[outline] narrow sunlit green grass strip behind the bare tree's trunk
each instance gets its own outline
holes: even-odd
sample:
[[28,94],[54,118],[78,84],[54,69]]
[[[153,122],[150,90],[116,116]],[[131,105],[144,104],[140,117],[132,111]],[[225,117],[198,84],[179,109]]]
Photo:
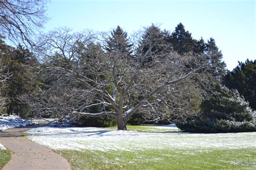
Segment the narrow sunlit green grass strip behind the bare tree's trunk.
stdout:
[[[139,126],[127,125],[126,127],[127,127],[127,130],[138,131],[138,132],[170,132],[170,131],[177,131],[176,129],[156,128],[156,126],[153,126],[153,125],[139,125]],[[110,128],[102,128],[102,129],[117,130],[117,126],[113,126],[113,127],[110,127]]]

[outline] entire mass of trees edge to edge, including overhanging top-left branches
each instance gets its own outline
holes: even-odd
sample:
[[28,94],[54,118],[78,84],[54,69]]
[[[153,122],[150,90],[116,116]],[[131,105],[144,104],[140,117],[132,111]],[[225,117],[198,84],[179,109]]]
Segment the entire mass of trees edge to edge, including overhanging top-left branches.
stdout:
[[255,61],[229,72],[213,38],[193,39],[181,23],[130,36],[120,26],[36,36],[43,1],[0,5],[2,113],[120,130],[173,122],[186,131],[255,131]]

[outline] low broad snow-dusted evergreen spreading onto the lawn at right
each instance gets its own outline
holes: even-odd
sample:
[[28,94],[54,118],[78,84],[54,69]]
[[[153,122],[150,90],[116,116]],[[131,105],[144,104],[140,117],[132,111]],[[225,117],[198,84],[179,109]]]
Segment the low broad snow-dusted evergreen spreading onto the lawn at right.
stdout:
[[227,133],[256,131],[256,112],[238,91],[221,88],[201,104],[201,115],[187,118],[178,127],[188,132]]

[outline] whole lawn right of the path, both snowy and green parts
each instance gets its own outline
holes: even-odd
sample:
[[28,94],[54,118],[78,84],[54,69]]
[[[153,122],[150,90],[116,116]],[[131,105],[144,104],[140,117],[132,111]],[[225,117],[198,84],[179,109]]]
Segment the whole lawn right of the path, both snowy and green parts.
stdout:
[[30,130],[29,139],[52,148],[73,169],[255,169],[256,132],[183,133],[171,126]]

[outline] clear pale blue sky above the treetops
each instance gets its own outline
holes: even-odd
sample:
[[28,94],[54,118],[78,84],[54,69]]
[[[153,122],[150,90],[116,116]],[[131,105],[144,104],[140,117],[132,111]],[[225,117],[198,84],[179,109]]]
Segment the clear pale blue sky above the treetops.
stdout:
[[213,37],[227,68],[256,59],[255,1],[52,0],[45,32],[67,26],[73,31],[109,31],[120,25],[132,33],[152,23],[173,31],[178,23],[194,39]]

